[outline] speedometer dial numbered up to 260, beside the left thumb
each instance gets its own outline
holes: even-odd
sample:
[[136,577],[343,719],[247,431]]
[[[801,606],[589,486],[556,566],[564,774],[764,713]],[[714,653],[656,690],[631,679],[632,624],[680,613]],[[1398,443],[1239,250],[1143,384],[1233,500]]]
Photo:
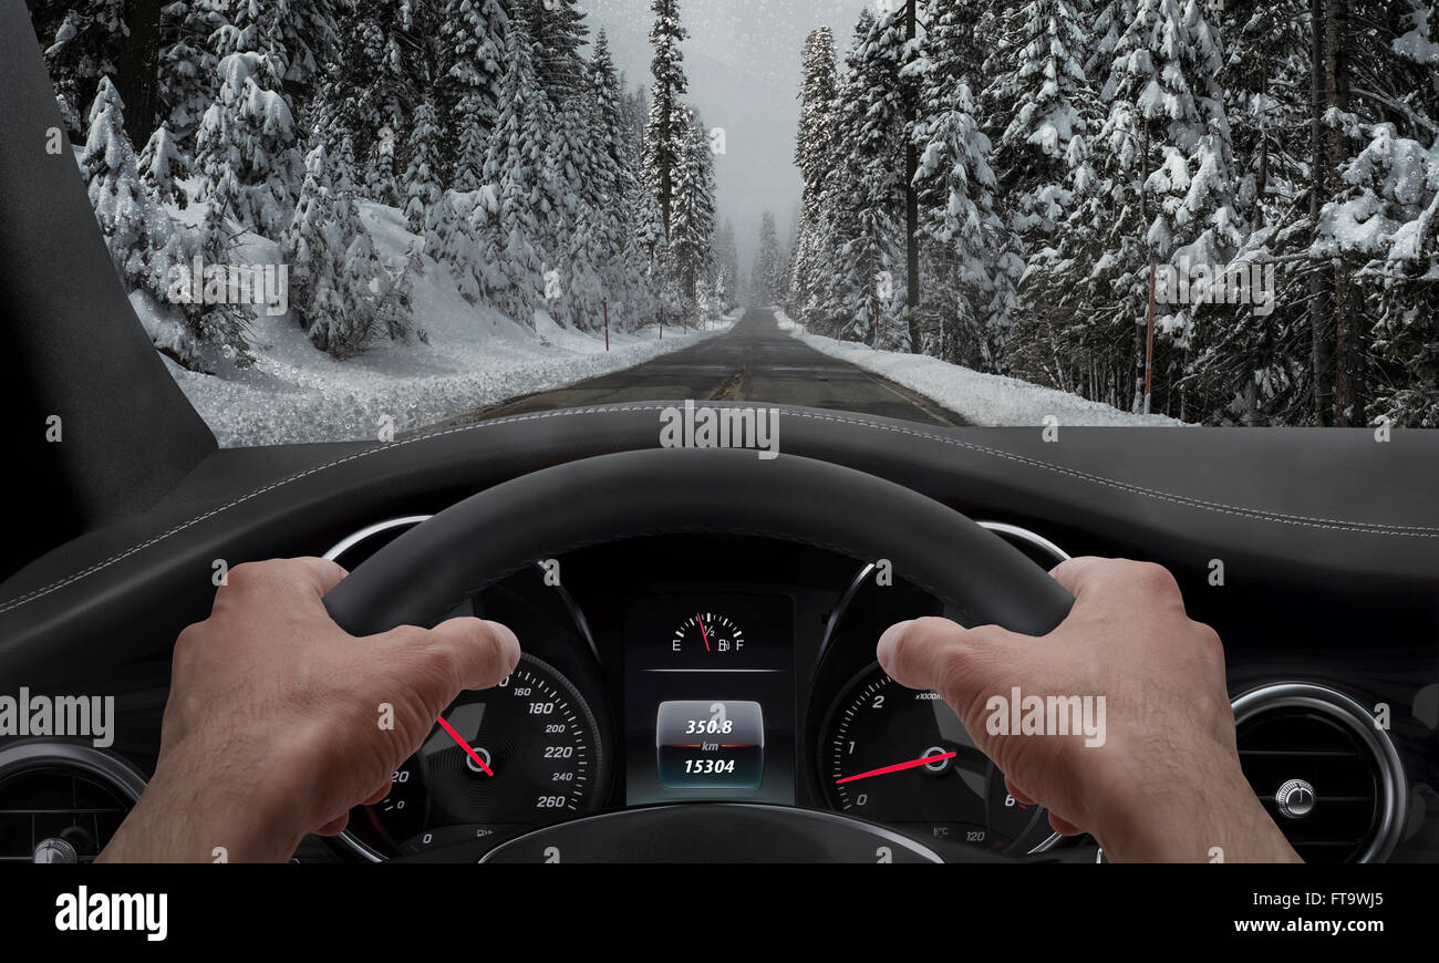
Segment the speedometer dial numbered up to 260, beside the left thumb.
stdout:
[[371,859],[466,839],[496,844],[599,803],[604,753],[578,690],[521,655],[495,688],[463,692],[420,750],[390,777],[390,795],[350,813],[345,841]]

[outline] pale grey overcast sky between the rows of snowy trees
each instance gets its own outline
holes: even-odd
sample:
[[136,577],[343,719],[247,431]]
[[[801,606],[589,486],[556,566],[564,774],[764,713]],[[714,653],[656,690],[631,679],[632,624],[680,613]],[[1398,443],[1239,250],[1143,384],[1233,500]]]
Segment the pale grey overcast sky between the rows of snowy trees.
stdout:
[[[689,30],[685,72],[689,102],[707,127],[725,130],[715,158],[721,223],[734,222],[740,269],[750,271],[760,217],[774,212],[789,243],[800,199],[794,167],[800,50],[817,26],[835,30],[843,55],[866,0],[681,0]],[[581,0],[593,32],[610,36],[614,62],[630,85],[649,83],[650,0]]]

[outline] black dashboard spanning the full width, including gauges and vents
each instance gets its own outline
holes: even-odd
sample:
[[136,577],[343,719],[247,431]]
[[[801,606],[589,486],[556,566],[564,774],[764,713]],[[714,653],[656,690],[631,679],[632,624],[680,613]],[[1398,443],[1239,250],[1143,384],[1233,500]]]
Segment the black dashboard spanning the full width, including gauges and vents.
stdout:
[[[1436,464],[1423,438],[1066,429],[1050,445],[1029,429],[784,417],[786,458],[770,468],[812,459],[889,481],[981,520],[1036,571],[1066,551],[1166,566],[1189,615],[1223,639],[1240,763],[1299,855],[1439,858],[1439,518],[1413,484]],[[3,736],[0,862],[86,862],[124,819],[155,769],[174,639],[209,615],[216,560],[330,550],[353,582],[400,533],[476,492],[522,479],[522,494],[550,468],[653,445],[655,412],[623,406],[393,445],[219,449],[147,511],[36,559],[0,586],[0,697],[112,694],[114,710],[104,744]],[[764,478],[773,488],[777,475]],[[793,507],[770,497],[763,523],[731,504],[754,492],[717,498],[709,534],[613,525],[554,547],[557,527],[603,521],[630,492],[547,491],[547,512],[450,531],[445,551],[407,563],[406,594],[509,625],[525,662],[448,707],[455,733],[436,725],[384,802],[354,810],[341,839],[307,838],[296,861],[534,861],[551,848],[574,861],[586,833],[639,854],[671,829],[681,848],[653,848],[671,859],[760,861],[810,825],[820,844],[853,836],[845,852],[812,848],[817,861],[1102,858],[1012,805],[943,704],[878,672],[885,628],[943,610],[907,580],[912,566],[891,571],[837,538],[766,537],[776,518],[816,515],[803,494]],[[649,498],[630,498],[637,517]],[[856,504],[909,538],[894,502]],[[816,528],[843,527],[819,515]],[[495,543],[522,566],[450,593],[455,569]],[[994,574],[957,541],[935,559],[970,584]],[[1004,596],[1016,574],[984,592]],[[668,812],[684,818],[666,828]],[[783,832],[767,833],[774,813]]]

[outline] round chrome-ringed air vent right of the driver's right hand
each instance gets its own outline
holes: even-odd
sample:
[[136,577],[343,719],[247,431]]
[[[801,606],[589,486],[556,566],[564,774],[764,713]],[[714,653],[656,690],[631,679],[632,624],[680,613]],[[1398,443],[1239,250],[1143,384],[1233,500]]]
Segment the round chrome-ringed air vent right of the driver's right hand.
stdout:
[[1307,862],[1381,862],[1403,826],[1404,774],[1363,705],[1302,682],[1235,701],[1239,761]]

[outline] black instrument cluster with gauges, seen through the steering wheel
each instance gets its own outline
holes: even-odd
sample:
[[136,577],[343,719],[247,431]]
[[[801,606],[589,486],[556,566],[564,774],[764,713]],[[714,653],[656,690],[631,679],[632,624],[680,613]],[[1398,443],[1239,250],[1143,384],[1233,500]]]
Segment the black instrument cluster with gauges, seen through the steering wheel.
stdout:
[[[353,567],[417,521],[374,525],[330,557]],[[991,528],[1036,564],[1065,557]],[[653,537],[543,560],[450,613],[511,626],[521,662],[450,704],[340,844],[370,861],[455,846],[485,858],[596,813],[757,803],[859,818],[938,859],[1049,851],[1062,841],[1043,809],[1006,792],[954,711],[875,662],[885,628],[941,612],[882,564],[766,538]]]

